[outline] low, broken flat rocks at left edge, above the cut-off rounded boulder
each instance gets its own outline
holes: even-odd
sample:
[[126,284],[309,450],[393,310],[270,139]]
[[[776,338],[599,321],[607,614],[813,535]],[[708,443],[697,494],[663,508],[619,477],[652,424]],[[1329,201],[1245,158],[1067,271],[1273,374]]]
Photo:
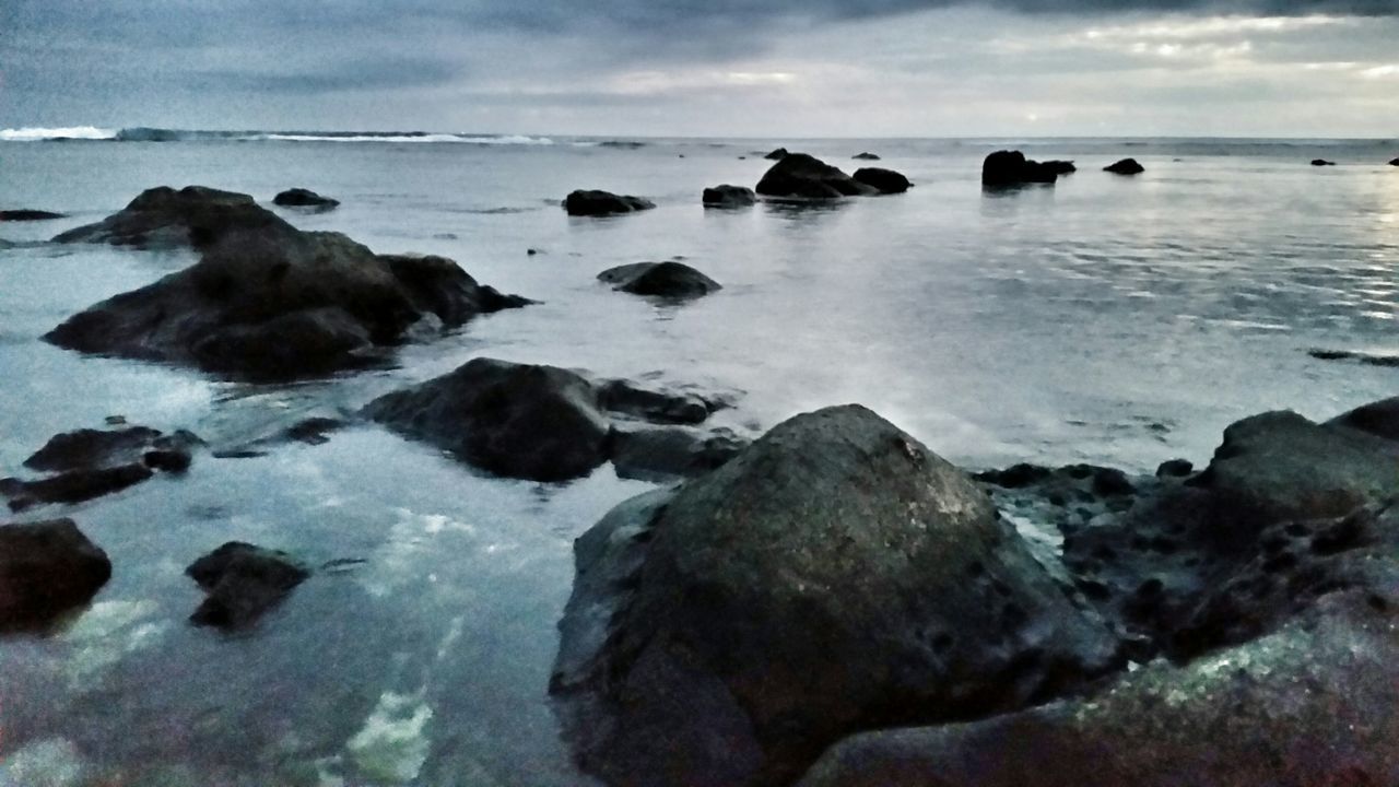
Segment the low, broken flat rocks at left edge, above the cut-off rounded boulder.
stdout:
[[31,471],[50,473],[48,478],[0,479],[0,494],[10,499],[11,511],[81,503],[141,483],[157,471],[183,472],[200,444],[199,437],[183,430],[166,436],[144,426],[69,431],[50,438],[24,462]]

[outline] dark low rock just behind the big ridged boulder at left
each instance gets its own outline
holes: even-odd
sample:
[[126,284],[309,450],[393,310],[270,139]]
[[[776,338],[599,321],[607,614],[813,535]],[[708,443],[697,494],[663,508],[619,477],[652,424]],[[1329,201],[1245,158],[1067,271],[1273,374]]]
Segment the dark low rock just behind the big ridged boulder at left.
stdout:
[[234,231],[295,232],[248,195],[204,186],[148,189],[126,209],[97,224],[55,237],[60,244],[112,244],[139,248],[203,248]]

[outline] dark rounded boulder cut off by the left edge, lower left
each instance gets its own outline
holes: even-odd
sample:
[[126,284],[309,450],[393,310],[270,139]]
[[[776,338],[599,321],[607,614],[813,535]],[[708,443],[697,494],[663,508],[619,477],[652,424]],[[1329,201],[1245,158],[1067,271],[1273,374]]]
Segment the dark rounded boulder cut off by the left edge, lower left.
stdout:
[[73,520],[0,527],[0,633],[46,627],[111,576],[106,553]]

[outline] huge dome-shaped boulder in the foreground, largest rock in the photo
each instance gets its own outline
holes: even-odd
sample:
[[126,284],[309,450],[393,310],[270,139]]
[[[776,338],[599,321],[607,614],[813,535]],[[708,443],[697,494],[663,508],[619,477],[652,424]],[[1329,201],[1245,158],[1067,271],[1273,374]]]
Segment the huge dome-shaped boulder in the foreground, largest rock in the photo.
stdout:
[[846,734],[1121,665],[981,489],[860,406],[790,419],[575,549],[551,690],[613,786],[786,784]]

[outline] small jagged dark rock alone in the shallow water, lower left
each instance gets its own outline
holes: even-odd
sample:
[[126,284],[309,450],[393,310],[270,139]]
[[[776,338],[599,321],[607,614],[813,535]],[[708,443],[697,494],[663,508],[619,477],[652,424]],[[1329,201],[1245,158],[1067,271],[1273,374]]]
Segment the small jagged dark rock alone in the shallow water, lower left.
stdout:
[[241,629],[257,622],[311,576],[285,552],[236,541],[200,557],[185,573],[208,592],[190,620],[218,629]]

